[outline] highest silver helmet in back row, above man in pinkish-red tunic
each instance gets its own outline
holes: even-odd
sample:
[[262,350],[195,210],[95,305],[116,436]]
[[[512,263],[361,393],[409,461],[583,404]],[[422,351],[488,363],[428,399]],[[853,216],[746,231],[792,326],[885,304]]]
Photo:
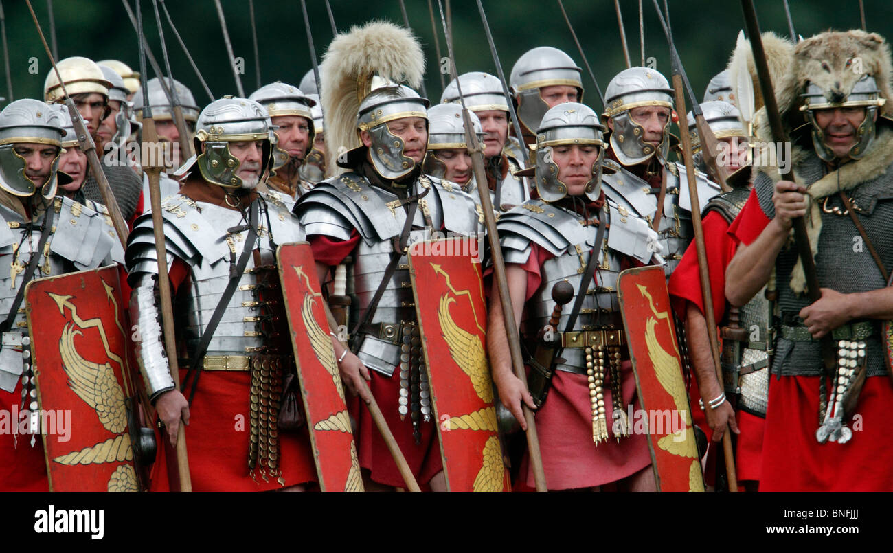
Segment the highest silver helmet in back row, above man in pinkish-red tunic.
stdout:
[[[537,128],[549,108],[539,96],[539,88],[542,87],[575,87],[578,90],[577,101],[581,102],[583,82],[580,75],[580,67],[573,63],[570,55],[558,48],[538,46],[528,50],[514,63],[509,77],[509,88],[518,105],[518,119],[530,130]],[[462,91],[464,93],[465,89]]]

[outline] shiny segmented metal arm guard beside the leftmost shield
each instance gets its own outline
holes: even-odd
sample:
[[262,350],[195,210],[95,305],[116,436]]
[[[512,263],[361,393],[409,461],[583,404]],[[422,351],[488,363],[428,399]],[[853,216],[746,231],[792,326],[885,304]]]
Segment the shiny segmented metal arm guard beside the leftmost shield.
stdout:
[[130,323],[137,325],[136,342],[139,372],[154,402],[163,392],[174,390],[171,369],[164,354],[164,339],[158,312],[157,276],[144,273],[130,293]]

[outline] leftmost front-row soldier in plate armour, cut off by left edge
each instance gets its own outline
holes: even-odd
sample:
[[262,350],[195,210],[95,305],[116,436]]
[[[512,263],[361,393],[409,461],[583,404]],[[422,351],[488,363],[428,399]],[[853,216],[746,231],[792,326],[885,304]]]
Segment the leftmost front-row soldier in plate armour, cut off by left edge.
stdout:
[[[121,261],[123,254],[103,213],[55,197],[71,180],[58,171],[63,132],[58,112],[39,100],[16,100],[0,112],[0,255],[10,267],[0,273],[0,412],[18,425],[18,432],[9,426],[0,432],[0,490],[48,489],[40,431],[22,425],[38,410],[29,343],[40,339],[26,319],[25,285]],[[10,420],[13,413],[19,416]]]

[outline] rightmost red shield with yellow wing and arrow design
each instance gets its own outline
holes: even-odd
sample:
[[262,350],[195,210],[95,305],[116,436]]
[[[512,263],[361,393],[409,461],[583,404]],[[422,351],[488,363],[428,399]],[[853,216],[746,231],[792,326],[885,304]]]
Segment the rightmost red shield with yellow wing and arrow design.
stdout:
[[621,272],[617,289],[657,490],[704,491],[663,267]]

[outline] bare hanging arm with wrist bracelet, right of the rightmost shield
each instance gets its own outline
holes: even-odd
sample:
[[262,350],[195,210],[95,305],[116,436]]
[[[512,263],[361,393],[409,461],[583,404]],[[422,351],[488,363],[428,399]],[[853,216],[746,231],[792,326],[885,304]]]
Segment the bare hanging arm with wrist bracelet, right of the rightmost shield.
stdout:
[[[732,432],[739,434],[738,423],[735,421],[735,410],[728,401],[711,409],[709,403],[722,395],[722,384],[716,378],[714,368],[714,356],[710,351],[710,339],[707,336],[707,322],[701,310],[691,302],[687,303],[685,314],[685,336],[689,340],[689,356],[692,368],[695,370],[697,389],[701,393],[706,406],[707,424],[714,431],[713,440],[722,440],[726,426]],[[695,406],[692,406],[694,409]]]

